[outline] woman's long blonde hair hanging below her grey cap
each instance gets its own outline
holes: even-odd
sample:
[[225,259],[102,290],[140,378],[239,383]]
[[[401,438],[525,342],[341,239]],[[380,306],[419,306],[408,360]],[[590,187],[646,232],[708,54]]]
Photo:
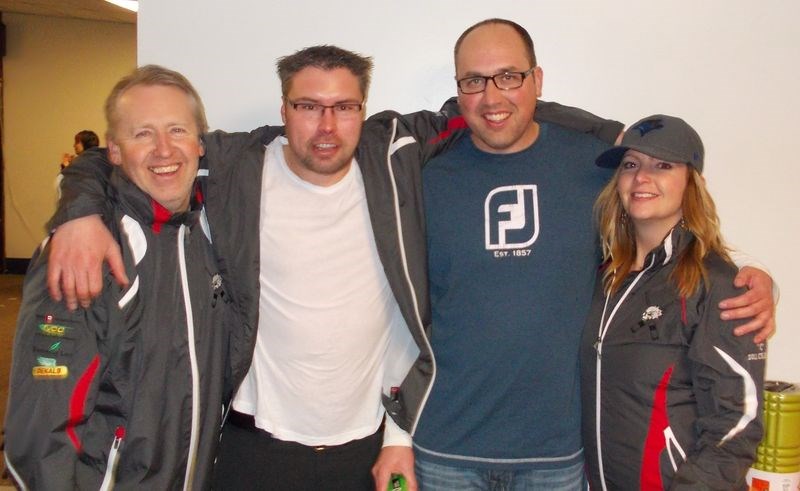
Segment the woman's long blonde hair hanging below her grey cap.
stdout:
[[[616,292],[636,260],[636,241],[631,221],[623,214],[622,201],[617,192],[621,166],[611,181],[597,197],[594,214],[603,245],[603,260],[608,262],[603,283],[608,293]],[[725,261],[731,262],[719,230],[719,217],[714,200],[705,181],[697,170],[688,166],[686,189],[683,192],[682,227],[694,235],[694,240],[680,253],[670,280],[681,296],[688,297],[700,285],[708,288],[708,271],[703,259],[715,252]]]

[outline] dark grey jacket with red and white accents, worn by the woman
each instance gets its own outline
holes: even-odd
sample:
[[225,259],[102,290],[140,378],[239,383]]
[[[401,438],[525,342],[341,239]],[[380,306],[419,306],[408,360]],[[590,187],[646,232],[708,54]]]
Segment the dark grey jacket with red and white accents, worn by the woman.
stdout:
[[611,298],[598,284],[581,346],[591,489],[746,489],[762,437],[766,351],[736,337],[717,304],[742,293],[736,268],[704,261],[709,285],[670,280],[694,237],[676,227]]

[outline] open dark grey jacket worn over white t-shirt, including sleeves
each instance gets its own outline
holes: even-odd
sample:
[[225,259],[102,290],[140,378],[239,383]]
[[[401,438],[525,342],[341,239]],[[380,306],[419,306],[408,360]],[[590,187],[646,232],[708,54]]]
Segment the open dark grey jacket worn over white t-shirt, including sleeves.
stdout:
[[[594,134],[609,143],[622,124],[586,111],[539,101],[536,119]],[[413,434],[435,378],[429,343],[425,210],[422,166],[464,134],[455,99],[440,112],[400,115],[386,111],[364,122],[355,158],[363,176],[378,255],[400,311],[404,332],[391,333],[385,363],[383,402],[394,421]],[[265,146],[284,134],[264,126],[245,133],[216,131],[204,136],[201,184],[219,269],[232,294],[241,325],[231,332],[234,384],[243,379],[258,330],[259,203]],[[102,172],[100,172],[102,174]],[[103,201],[97,169],[74,164],[64,170],[62,206],[52,225],[98,213]],[[87,192],[88,191],[88,192]]]

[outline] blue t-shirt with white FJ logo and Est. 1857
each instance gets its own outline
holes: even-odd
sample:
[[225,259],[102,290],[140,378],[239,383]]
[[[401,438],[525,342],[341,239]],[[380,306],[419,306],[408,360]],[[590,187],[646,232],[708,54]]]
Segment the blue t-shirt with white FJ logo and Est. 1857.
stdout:
[[592,206],[608,145],[540,124],[513,154],[462,138],[423,190],[436,378],[414,435],[448,465],[581,459],[578,347],[598,265]]

